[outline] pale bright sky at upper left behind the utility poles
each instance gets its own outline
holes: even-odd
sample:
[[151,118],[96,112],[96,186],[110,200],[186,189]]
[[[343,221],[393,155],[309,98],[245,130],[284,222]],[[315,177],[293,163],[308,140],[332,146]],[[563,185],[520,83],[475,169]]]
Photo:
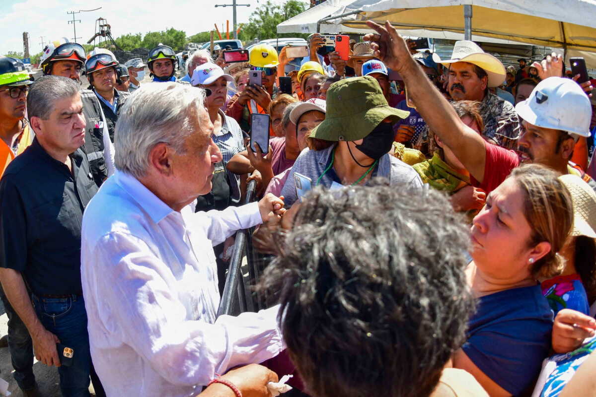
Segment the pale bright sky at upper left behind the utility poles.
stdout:
[[[73,37],[73,25],[67,21],[72,15],[67,11],[101,10],[76,14],[77,36],[86,42],[95,32],[95,20],[106,18],[111,25],[113,37],[126,33],[146,33],[169,27],[184,30],[188,36],[213,29],[213,24],[225,26],[229,19],[232,29],[232,7],[218,7],[215,4],[232,4],[232,0],[0,0],[0,54],[7,51],[23,51],[23,32],[29,32],[29,51],[36,54],[42,49],[41,37],[45,42],[60,37]],[[306,2],[306,0],[303,0]],[[238,23],[247,22],[250,14],[265,0],[238,0]],[[281,3],[283,0],[274,0]],[[224,28],[225,29],[225,28]]]

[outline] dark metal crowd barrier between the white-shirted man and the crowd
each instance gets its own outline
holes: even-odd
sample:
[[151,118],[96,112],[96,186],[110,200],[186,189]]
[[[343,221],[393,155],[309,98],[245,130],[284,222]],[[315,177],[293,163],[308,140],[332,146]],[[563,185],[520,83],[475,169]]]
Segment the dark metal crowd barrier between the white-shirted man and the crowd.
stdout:
[[[246,187],[246,199],[243,204],[248,204],[253,201],[256,190],[256,181],[251,180]],[[247,302],[246,299],[246,281],[242,274],[242,262],[244,254],[247,251],[247,247],[250,246],[252,250],[252,231],[250,229],[238,230],[236,233],[236,239],[234,242],[234,248],[232,249],[232,258],[229,263],[228,275],[226,276],[224,293],[222,293],[222,299],[219,302],[218,317],[222,314],[232,314],[234,309],[237,308],[240,312],[245,312],[250,308],[253,309],[253,302]],[[254,263],[249,263],[249,275],[251,281],[256,280],[256,273],[253,269]],[[250,284],[250,282],[249,282]]]

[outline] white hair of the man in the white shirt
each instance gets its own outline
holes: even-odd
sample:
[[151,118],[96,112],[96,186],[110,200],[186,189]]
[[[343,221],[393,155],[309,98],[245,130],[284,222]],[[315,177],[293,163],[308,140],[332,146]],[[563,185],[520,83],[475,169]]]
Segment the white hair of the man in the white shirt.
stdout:
[[147,83],[129,96],[114,131],[114,161],[120,171],[140,178],[149,153],[167,143],[184,154],[184,143],[197,130],[197,112],[204,110],[205,90],[179,83]]

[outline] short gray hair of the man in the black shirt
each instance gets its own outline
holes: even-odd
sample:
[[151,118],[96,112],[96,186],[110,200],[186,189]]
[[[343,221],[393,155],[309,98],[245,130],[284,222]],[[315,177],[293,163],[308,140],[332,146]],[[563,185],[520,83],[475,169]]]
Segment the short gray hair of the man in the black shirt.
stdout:
[[29,120],[39,117],[48,120],[54,111],[54,104],[60,99],[79,94],[80,87],[75,80],[62,76],[43,76],[33,83],[27,95]]

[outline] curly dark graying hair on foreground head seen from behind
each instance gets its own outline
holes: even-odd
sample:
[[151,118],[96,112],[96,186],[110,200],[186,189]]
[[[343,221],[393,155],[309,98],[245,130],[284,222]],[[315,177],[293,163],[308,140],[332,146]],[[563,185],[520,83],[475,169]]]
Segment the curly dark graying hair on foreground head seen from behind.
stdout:
[[[417,196],[414,198],[414,195]],[[440,192],[386,180],[306,195],[260,287],[316,397],[428,396],[465,339],[468,230]]]

